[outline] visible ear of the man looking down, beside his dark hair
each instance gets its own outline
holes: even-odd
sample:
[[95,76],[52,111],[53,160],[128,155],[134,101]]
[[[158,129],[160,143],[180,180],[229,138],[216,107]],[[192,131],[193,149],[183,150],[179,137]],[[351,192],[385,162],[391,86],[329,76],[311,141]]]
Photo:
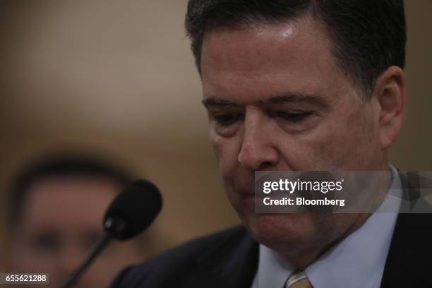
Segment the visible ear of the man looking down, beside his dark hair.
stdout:
[[380,107],[381,148],[390,147],[402,128],[407,107],[407,82],[400,67],[389,67],[376,82],[376,100]]

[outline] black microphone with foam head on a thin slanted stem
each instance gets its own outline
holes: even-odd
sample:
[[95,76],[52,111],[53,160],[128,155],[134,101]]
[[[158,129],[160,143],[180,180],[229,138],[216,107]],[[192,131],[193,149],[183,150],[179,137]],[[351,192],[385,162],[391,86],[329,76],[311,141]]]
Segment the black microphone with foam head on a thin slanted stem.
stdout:
[[143,232],[162,209],[162,196],[149,181],[137,180],[128,184],[109,205],[104,217],[105,236],[92,249],[88,258],[61,285],[72,287],[80,275],[112,239],[126,240]]

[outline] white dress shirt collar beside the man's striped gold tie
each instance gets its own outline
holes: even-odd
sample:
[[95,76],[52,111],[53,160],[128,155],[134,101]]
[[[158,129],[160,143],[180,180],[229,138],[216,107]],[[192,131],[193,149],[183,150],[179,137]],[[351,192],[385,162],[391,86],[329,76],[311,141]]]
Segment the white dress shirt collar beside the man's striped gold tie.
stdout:
[[[402,202],[395,167],[383,203],[355,232],[324,253],[304,270],[314,288],[379,288]],[[279,253],[260,244],[258,271],[251,288],[283,288],[295,268]]]

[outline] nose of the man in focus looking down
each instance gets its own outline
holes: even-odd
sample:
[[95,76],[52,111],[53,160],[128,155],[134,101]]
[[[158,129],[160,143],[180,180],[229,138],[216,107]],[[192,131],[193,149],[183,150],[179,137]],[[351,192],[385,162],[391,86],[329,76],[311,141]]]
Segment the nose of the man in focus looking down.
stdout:
[[240,164],[250,171],[276,166],[280,155],[271,120],[255,107],[246,108],[245,113],[243,141],[238,156]]

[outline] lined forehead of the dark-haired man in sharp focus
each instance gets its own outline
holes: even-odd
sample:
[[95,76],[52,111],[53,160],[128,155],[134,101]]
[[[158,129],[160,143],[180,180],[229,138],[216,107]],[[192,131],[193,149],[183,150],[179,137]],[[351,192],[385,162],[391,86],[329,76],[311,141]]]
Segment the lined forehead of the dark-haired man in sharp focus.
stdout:
[[204,97],[247,95],[252,100],[331,89],[344,78],[331,51],[325,25],[312,16],[209,30],[201,56]]

